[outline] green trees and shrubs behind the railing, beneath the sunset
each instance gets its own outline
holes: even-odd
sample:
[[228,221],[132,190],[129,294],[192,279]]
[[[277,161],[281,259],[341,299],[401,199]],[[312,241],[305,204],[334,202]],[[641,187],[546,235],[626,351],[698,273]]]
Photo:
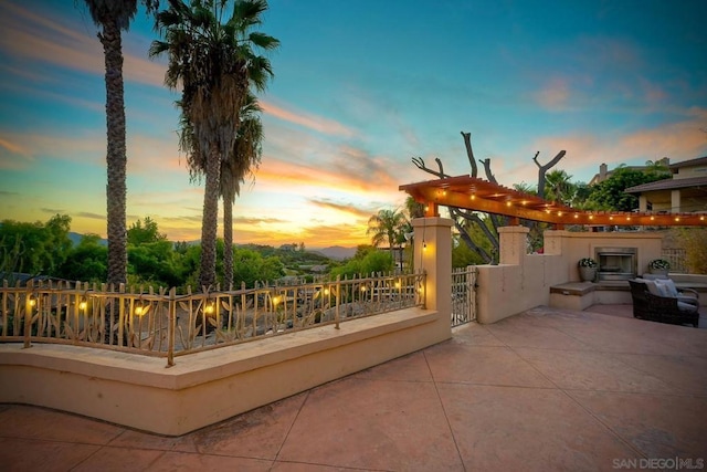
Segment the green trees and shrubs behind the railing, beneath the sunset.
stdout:
[[[0,224],[0,279],[14,283],[17,274],[67,281],[104,283],[108,249],[97,234],[85,234],[77,244],[70,238],[71,218],[56,214],[45,223],[3,220]],[[217,243],[218,282],[223,286],[223,240]],[[171,242],[149,217],[127,231],[128,285],[198,287],[201,245]],[[314,275],[352,275],[390,272],[392,256],[371,247],[360,247],[351,260],[339,262],[305,251],[304,244],[286,249],[247,244],[233,248],[233,285],[253,287],[285,276],[304,280]]]

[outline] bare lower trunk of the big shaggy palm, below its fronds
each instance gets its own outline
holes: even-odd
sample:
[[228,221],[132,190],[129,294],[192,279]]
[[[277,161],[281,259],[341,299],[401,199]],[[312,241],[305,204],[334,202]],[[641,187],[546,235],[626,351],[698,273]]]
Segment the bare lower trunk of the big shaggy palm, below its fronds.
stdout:
[[217,229],[219,225],[219,177],[221,154],[214,144],[205,162],[203,217],[201,223],[201,287],[214,287],[217,282]]

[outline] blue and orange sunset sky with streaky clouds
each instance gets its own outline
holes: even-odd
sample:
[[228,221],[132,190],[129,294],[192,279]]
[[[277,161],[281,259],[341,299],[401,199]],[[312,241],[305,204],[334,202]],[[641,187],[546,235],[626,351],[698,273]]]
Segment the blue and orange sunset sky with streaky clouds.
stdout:
[[[370,243],[369,217],[433,177],[469,174],[460,132],[502,185],[532,156],[589,181],[601,162],[707,155],[707,1],[272,0],[282,45],[262,165],[234,204],[234,241]],[[203,186],[178,149],[179,94],[143,7],[123,35],[128,225],[201,234]],[[68,214],[106,234],[103,49],[82,0],[0,1],[0,220]],[[482,176],[483,177],[483,176]],[[220,223],[219,234],[222,234]]]

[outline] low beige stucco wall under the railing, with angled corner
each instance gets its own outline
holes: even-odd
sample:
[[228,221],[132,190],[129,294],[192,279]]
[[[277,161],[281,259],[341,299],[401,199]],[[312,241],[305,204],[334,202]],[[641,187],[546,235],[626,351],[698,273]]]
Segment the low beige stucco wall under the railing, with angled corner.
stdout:
[[0,345],[0,402],[179,436],[451,337],[409,308],[166,359],[70,345]]

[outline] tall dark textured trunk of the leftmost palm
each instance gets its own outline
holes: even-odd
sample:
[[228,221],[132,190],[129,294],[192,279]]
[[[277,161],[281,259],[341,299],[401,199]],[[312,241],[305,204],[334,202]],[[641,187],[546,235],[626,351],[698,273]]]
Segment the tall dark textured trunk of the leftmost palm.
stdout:
[[106,21],[98,34],[106,64],[107,126],[107,232],[108,284],[127,282],[125,103],[123,91],[123,46],[117,21]]

